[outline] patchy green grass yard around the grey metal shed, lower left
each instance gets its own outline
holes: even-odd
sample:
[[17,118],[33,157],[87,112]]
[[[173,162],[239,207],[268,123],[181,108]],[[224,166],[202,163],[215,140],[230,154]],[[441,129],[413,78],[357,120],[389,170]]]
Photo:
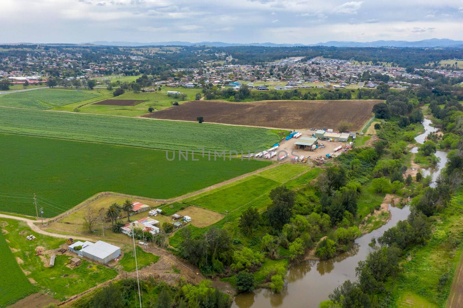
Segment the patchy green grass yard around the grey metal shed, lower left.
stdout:
[[[91,265],[85,259],[82,264],[74,269],[67,267],[69,256],[57,254],[55,265],[48,267],[50,262],[51,249],[58,248],[64,243],[63,239],[58,239],[48,235],[38,234],[32,231],[24,222],[14,220],[5,220],[7,226],[5,238],[9,241],[21,268],[27,273],[41,291],[50,292],[57,300],[64,300],[84,292],[99,283],[103,283],[117,276],[118,272],[114,269],[107,268],[104,265]],[[27,234],[36,236],[36,240],[25,240]],[[42,247],[43,254],[36,254],[37,247]],[[16,283],[15,283],[16,285]]]

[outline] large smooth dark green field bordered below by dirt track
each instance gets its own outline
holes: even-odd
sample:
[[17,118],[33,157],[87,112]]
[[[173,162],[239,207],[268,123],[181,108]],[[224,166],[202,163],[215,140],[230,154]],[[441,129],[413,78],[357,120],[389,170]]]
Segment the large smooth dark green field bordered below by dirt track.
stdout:
[[[35,192],[42,197],[38,203],[44,217],[100,191],[171,198],[269,165],[262,160],[208,161],[199,155],[199,161],[167,161],[164,151],[9,134],[0,134],[0,144],[5,149],[0,211],[35,216],[32,200],[22,198]],[[16,195],[21,198],[5,197]]]

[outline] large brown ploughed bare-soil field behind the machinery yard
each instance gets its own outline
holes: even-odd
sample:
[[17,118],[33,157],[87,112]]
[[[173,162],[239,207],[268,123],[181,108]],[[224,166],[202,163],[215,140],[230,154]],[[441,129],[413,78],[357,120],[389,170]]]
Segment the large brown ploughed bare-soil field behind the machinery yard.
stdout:
[[204,121],[275,128],[332,128],[342,120],[351,130],[361,129],[372,117],[371,108],[381,100],[289,100],[231,103],[217,100],[193,100],[145,114],[170,120]]

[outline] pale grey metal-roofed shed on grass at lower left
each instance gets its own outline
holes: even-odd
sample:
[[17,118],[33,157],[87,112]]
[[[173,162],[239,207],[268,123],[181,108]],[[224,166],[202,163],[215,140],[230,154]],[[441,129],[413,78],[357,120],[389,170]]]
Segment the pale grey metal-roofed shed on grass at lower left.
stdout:
[[[81,246],[80,250],[75,248]],[[69,245],[69,251],[77,253],[79,257],[85,257],[100,263],[108,263],[109,261],[120,256],[120,247],[111,245],[102,240],[92,243],[89,241],[77,241]]]

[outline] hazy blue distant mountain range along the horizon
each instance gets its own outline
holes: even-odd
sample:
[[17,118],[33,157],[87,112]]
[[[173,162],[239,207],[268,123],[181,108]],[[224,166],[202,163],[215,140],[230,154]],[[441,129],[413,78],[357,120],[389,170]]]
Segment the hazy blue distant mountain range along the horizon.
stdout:
[[266,46],[266,47],[293,47],[293,46],[334,46],[334,47],[459,47],[463,48],[463,41],[454,41],[448,38],[431,38],[428,40],[421,41],[373,41],[373,42],[343,42],[343,41],[329,41],[325,43],[316,44],[276,44],[276,43],[224,43],[224,42],[151,42],[151,43],[138,43],[138,42],[107,42],[107,41],[96,41],[90,44],[105,45],[105,46],[193,46],[193,45],[207,45],[215,47],[227,47],[227,46]]

